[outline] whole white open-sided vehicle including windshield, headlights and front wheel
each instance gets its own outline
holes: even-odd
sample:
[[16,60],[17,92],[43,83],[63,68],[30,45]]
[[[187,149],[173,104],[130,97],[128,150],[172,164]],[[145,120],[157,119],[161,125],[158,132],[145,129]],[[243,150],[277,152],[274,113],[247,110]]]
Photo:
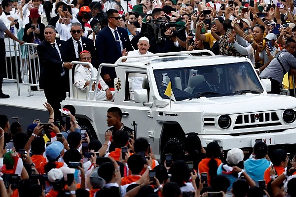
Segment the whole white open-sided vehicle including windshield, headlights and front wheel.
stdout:
[[[260,80],[249,59],[208,50],[143,56],[150,59],[121,63],[122,57],[114,65],[100,65],[98,74],[102,66],[116,69],[113,102],[97,101],[97,90],[77,90],[70,82],[70,97],[62,105],[74,105],[78,124],[91,137],[104,140],[107,110],[117,106],[122,122],[131,127],[136,121],[137,137],[147,138],[159,159],[167,153],[178,157],[190,132],[199,135],[204,147],[216,140],[224,151],[241,148],[251,154],[256,140],[262,140],[270,148],[286,146],[295,152],[296,99],[267,94],[270,80]],[[96,80],[92,76],[91,85]],[[164,95],[170,81],[176,99],[171,103]]]

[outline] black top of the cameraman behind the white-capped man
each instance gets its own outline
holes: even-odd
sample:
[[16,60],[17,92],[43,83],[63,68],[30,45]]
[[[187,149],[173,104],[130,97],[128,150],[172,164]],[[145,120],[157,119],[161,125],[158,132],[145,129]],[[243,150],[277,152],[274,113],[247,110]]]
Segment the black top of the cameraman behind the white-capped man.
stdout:
[[175,46],[174,42],[170,38],[161,40],[160,43],[156,43],[155,36],[150,40],[150,47],[148,49],[151,53],[168,53],[168,52],[177,52],[181,51],[180,43],[179,46]]

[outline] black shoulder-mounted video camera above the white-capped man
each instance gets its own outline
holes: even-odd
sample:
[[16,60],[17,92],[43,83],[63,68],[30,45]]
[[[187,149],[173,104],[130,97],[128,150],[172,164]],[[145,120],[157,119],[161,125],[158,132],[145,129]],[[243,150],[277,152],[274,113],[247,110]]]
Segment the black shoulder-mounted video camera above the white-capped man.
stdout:
[[[168,22],[168,21],[163,21],[163,20],[158,20],[158,19],[152,19],[147,24],[148,24],[147,31],[148,31],[148,33],[154,33],[156,43],[161,42],[161,40],[165,36],[164,33],[167,31],[168,28],[182,27],[181,25],[178,25],[174,22]],[[180,34],[180,30],[173,31],[172,36],[176,36],[178,34]],[[169,36],[166,36],[166,37],[169,37]]]

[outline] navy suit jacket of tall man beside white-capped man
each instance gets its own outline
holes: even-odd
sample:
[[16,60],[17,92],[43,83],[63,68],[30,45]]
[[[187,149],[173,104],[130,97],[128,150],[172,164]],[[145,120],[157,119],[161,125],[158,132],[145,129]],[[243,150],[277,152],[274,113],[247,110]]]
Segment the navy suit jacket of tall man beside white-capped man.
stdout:
[[[129,36],[124,28],[117,27],[117,31],[120,35],[122,46],[126,51],[133,51]],[[111,32],[109,26],[98,32],[96,37],[96,52],[98,55],[99,65],[102,63],[114,64],[118,58],[122,56],[121,51],[116,47],[115,38]],[[101,75],[109,74],[111,79],[116,78],[115,69],[113,67],[103,67]]]

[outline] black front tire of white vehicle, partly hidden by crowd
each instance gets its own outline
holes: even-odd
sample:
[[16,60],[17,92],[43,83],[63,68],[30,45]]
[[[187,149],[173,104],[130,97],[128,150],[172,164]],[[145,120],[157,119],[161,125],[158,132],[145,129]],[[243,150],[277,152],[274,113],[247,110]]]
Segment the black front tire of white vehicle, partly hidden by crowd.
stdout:
[[172,154],[173,161],[178,160],[178,158],[184,154],[185,140],[181,137],[172,137],[164,145],[162,151],[162,163],[165,160],[165,154]]

